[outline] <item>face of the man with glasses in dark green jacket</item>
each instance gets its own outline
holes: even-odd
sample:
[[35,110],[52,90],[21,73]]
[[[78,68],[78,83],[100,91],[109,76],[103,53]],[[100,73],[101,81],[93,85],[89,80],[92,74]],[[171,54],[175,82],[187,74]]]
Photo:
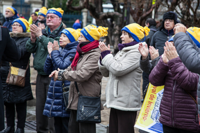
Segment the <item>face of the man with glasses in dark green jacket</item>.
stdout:
[[59,26],[62,22],[62,18],[59,18],[55,14],[49,13],[46,17],[47,26]]

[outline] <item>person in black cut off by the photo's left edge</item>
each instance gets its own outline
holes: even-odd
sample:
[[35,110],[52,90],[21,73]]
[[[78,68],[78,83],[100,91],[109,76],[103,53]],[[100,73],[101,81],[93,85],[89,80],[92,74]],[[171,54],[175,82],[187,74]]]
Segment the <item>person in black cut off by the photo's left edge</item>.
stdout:
[[[5,60],[11,62],[19,59],[20,59],[20,52],[15,44],[15,41],[10,38],[9,30],[7,28],[0,27],[0,61]],[[3,104],[2,84],[0,78],[0,131],[3,129],[4,129],[4,104]]]

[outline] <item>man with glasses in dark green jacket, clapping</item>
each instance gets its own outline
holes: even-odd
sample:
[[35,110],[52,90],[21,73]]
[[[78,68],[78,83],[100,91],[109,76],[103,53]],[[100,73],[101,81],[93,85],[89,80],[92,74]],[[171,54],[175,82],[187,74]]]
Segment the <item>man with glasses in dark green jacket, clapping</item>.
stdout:
[[49,42],[58,41],[60,32],[63,30],[62,15],[63,10],[60,8],[51,8],[46,16],[46,28],[41,28],[36,25],[30,26],[31,39],[26,43],[26,48],[29,52],[35,53],[33,67],[37,70],[36,80],[36,121],[38,133],[54,132],[53,119],[48,119],[43,115],[44,105],[46,102],[47,92],[49,88],[50,78],[44,72],[44,64],[48,55],[47,45]]

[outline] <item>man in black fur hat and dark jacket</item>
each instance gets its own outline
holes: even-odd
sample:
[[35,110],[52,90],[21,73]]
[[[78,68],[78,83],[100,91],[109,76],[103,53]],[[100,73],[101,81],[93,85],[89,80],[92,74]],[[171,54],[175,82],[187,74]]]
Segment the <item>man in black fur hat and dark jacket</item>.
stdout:
[[159,55],[164,53],[165,42],[174,35],[173,28],[176,23],[178,23],[178,20],[175,12],[169,11],[163,15],[162,25],[153,35],[150,43],[151,46],[159,50]]

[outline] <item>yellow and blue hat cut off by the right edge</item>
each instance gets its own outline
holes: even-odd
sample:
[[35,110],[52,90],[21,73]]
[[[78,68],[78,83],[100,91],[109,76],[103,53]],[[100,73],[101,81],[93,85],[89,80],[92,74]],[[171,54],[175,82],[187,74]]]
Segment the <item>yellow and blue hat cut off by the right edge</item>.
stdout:
[[187,29],[187,33],[192,38],[193,42],[200,48],[200,28],[190,27]]

